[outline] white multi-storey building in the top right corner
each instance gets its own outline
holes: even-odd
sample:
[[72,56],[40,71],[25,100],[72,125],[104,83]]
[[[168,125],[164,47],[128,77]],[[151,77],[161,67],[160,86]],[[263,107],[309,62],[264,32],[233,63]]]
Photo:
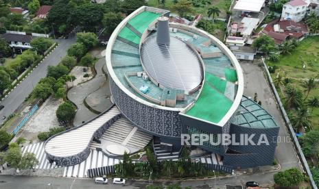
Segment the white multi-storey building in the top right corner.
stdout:
[[303,0],[293,0],[283,5],[281,18],[290,19],[295,22],[300,22],[305,18],[308,3]]

